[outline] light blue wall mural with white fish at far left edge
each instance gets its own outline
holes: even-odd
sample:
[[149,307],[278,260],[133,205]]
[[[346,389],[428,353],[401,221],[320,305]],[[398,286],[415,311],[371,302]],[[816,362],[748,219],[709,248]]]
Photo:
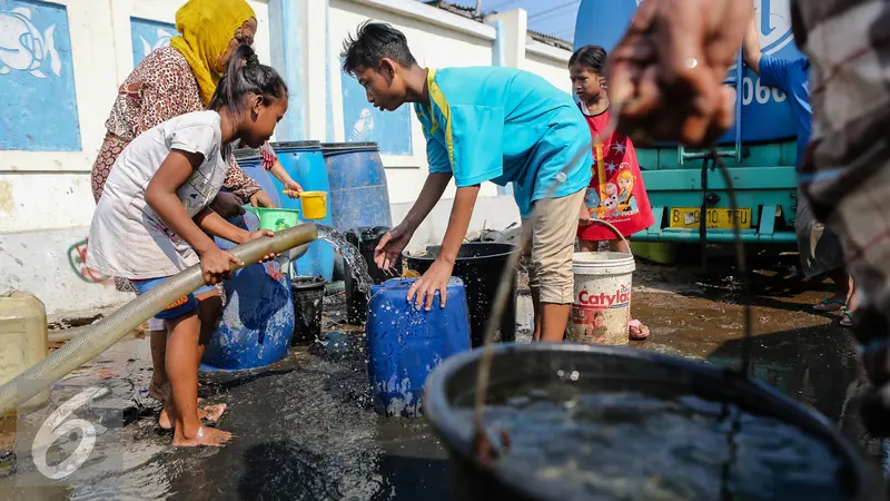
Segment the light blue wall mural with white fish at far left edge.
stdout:
[[0,149],[82,149],[62,6],[0,2]]

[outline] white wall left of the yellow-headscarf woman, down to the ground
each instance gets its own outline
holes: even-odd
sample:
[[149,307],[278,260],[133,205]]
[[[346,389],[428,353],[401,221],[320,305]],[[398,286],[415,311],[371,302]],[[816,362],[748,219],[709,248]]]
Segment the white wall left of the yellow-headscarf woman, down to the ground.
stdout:
[[[43,1],[67,8],[82,148],[0,151],[0,294],[17,288],[30,291],[52,314],[108,306],[131,297],[108,283],[81,279],[71,269],[68,255],[89,233],[96,207],[90,170],[118,86],[132,71],[130,17],[175,23],[176,11],[184,2]],[[255,48],[260,60],[268,61],[266,1],[250,4],[259,24]],[[44,99],[31,106],[58,104]]]

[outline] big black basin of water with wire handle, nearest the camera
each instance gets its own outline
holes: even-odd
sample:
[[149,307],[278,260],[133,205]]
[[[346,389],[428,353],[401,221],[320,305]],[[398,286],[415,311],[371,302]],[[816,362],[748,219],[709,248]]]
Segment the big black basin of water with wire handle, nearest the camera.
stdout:
[[[755,489],[758,494],[756,499],[775,499],[775,500],[791,500],[791,499],[843,499],[843,500],[870,500],[870,499],[886,499],[882,491],[883,482],[880,480],[880,474],[877,468],[867,464],[860,456],[857,449],[848,442],[848,440],[840,434],[834,425],[824,419],[821,414],[805,407],[804,405],[791,400],[788,396],[779,393],[777,390],[754,380],[741,377],[736,373],[730,373],[728,370],[716,365],[692,362],[683,358],[660,355],[651,352],[644,352],[627,347],[616,346],[600,346],[586,344],[571,344],[571,343],[532,343],[532,344],[500,344],[493,346],[494,358],[491,370],[491,387],[514,387],[514,389],[531,389],[531,387],[551,387],[556,396],[553,401],[562,403],[563,400],[558,399],[560,395],[572,394],[581,395],[605,395],[602,402],[597,401],[593,414],[596,415],[595,420],[601,416],[612,415],[612,421],[603,421],[602,424],[594,424],[595,426],[610,426],[612,435],[597,435],[610,436],[611,443],[620,444],[620,446],[627,450],[640,450],[641,448],[647,452],[640,455],[631,454],[630,465],[619,464],[617,468],[626,469],[620,471],[635,470],[637,468],[645,468],[647,461],[652,461],[652,455],[664,454],[670,451],[673,454],[668,461],[659,463],[657,473],[646,471],[645,474],[653,475],[655,479],[664,479],[668,482],[680,482],[684,479],[701,480],[701,477],[683,477],[684,472],[701,472],[702,465],[704,471],[712,472],[713,477],[710,482],[716,482],[721,487],[729,487],[729,489]],[[433,425],[435,433],[442,439],[446,449],[452,458],[452,472],[453,483],[455,491],[455,499],[461,500],[495,500],[495,499],[521,499],[521,500],[550,500],[550,499],[617,499],[603,494],[585,493],[583,495],[566,495],[566,492],[556,492],[562,488],[562,483],[568,481],[560,477],[561,480],[552,481],[547,478],[542,479],[536,473],[541,470],[525,470],[523,465],[530,463],[517,462],[517,459],[511,459],[511,450],[507,450],[501,459],[488,461],[479,461],[472,451],[472,438],[474,433],[472,401],[474,397],[474,389],[476,385],[476,374],[478,371],[479,360],[483,355],[483,350],[473,350],[456,354],[446,358],[438,367],[436,367],[426,381],[426,391],[424,394],[425,418]],[[540,391],[540,390],[536,390]],[[615,393],[619,392],[619,393]],[[496,392],[495,392],[496,393]],[[505,395],[514,393],[505,392],[502,390],[501,394],[493,394],[487,392],[486,401],[503,402],[507,399]],[[532,393],[533,394],[533,393]],[[793,481],[785,483],[777,483],[771,481],[770,474],[763,477],[758,475],[753,482],[743,482],[740,480],[750,471],[754,458],[750,458],[745,465],[739,469],[730,470],[729,465],[724,466],[722,462],[702,462],[703,459],[696,454],[690,453],[690,446],[676,446],[673,449],[665,449],[665,443],[670,442],[668,438],[660,440],[657,438],[657,424],[668,424],[666,421],[656,419],[655,421],[655,439],[652,439],[652,429],[647,429],[646,436],[641,438],[640,430],[627,426],[627,423],[634,423],[641,419],[639,413],[626,412],[622,414],[623,409],[620,404],[614,404],[616,400],[609,400],[611,395],[620,394],[645,394],[655,395],[655,401],[669,402],[688,402],[688,397],[696,399],[698,402],[711,402],[711,407],[686,407],[693,409],[689,412],[692,416],[698,414],[694,429],[701,429],[704,433],[712,433],[712,423],[714,420],[713,406],[724,409],[723,405],[731,405],[732,409],[741,410],[745,415],[756,416],[755,419],[762,420],[759,428],[761,436],[769,438],[775,436],[778,440],[790,440],[793,431],[794,436],[803,436],[808,443],[815,444],[820,455],[809,456],[810,459],[802,460],[802,464],[820,464],[817,460],[829,458],[831,468],[827,468],[824,473],[822,471],[810,472],[809,482]],[[590,396],[582,396],[581,399],[590,399]],[[574,397],[578,399],[578,397]],[[510,401],[507,401],[510,402]],[[578,402],[578,400],[574,400]],[[591,402],[591,401],[589,401]],[[501,404],[498,404],[501,405]],[[511,404],[513,405],[513,404]],[[523,406],[526,405],[526,406]],[[516,448],[517,434],[521,430],[536,430],[537,433],[524,434],[525,446],[528,443],[537,444],[542,451],[536,458],[540,458],[543,464],[548,460],[544,459],[543,451],[556,451],[556,464],[575,464],[577,473],[574,475],[584,474],[584,472],[600,472],[607,475],[609,468],[615,463],[610,462],[607,456],[603,456],[602,461],[584,461],[584,456],[572,458],[572,454],[581,455],[577,451],[587,450],[587,458],[591,454],[603,454],[606,445],[603,441],[597,441],[597,438],[591,438],[591,434],[596,433],[587,432],[578,439],[578,434],[565,433],[565,430],[571,430],[572,426],[580,425],[577,422],[563,425],[568,426],[556,429],[554,438],[547,435],[545,430],[551,430],[552,426],[562,425],[563,421],[552,420],[541,416],[540,404],[516,403],[515,409],[522,410],[516,415],[521,419],[513,421],[515,429],[506,428],[507,432],[513,431],[511,435],[511,444]],[[591,415],[590,406],[587,411],[582,409],[578,404],[566,405],[566,415]],[[645,409],[645,407],[641,407]],[[652,407],[650,407],[652,409]],[[487,415],[494,411],[490,411]],[[587,414],[583,414],[587,412]],[[738,411],[736,411],[738,412]],[[504,414],[500,414],[501,419],[488,418],[486,426],[490,432],[492,429],[504,430],[501,426],[510,426],[508,420],[504,421]],[[615,419],[615,415],[619,418]],[[622,418],[623,416],[623,418]],[[587,418],[584,418],[587,419]],[[710,421],[709,421],[710,420]],[[719,421],[719,420],[718,420]],[[597,423],[599,421],[591,421]],[[741,435],[745,423],[742,419],[736,423],[738,430]],[[612,423],[612,424],[609,424]],[[770,424],[772,423],[772,424]],[[729,430],[731,424],[721,426],[720,433],[723,430]],[[765,426],[765,428],[764,428]],[[774,431],[770,431],[770,426]],[[587,428],[590,430],[590,428]],[[665,433],[670,433],[666,430]],[[617,436],[621,433],[630,433],[626,436]],[[782,433],[787,433],[782,435]],[[570,436],[567,443],[558,442],[563,436]],[[686,438],[684,438],[686,436]],[[704,435],[702,435],[704,436]],[[749,432],[749,438],[751,436]],[[694,443],[702,443],[702,438],[693,438],[678,433],[672,438],[692,441]],[[674,440],[676,443],[678,440]],[[719,440],[711,440],[710,444],[728,444],[720,435]],[[744,454],[745,448],[751,448],[753,442],[740,439],[739,444],[740,454]],[[793,443],[793,442],[792,442]],[[520,446],[521,450],[521,446]],[[748,449],[751,450],[751,449]],[[564,451],[568,451],[565,453]],[[590,452],[593,451],[593,452]],[[760,449],[767,451],[768,454],[774,454],[772,449]],[[525,452],[528,454],[527,450]],[[533,453],[534,454],[534,453]],[[563,454],[568,455],[568,458]],[[685,455],[684,455],[685,454]],[[527,456],[527,455],[526,455]],[[534,455],[532,455],[535,458]],[[730,455],[731,456],[731,455]],[[671,460],[676,458],[676,460]],[[770,456],[771,461],[775,456]],[[795,459],[798,464],[801,464],[800,459]],[[535,460],[536,461],[536,460]],[[706,460],[704,460],[706,461]],[[684,464],[689,463],[694,469],[683,469]],[[517,464],[520,466],[517,466]],[[532,462],[532,464],[540,464]],[[759,462],[758,465],[763,465],[764,462]],[[771,466],[774,470],[770,472],[782,471],[784,468],[781,464]],[[824,464],[824,462],[822,462]],[[713,468],[712,468],[713,466]],[[550,468],[550,466],[547,466]],[[793,468],[793,466],[791,466]],[[820,465],[821,468],[821,465]],[[552,472],[552,470],[551,470]],[[736,475],[736,477],[732,477]],[[749,473],[750,475],[750,473]],[[553,479],[554,477],[550,477]],[[581,477],[570,477],[571,479],[578,479]],[[601,477],[604,478],[604,477]],[[820,483],[813,497],[812,479],[817,478]],[[735,479],[735,480],[733,480]],[[657,480],[656,480],[657,481]],[[734,484],[732,482],[735,482]],[[556,482],[556,484],[554,484]],[[634,484],[637,485],[637,484]],[[828,488],[827,488],[827,487]],[[795,490],[809,490],[804,495],[802,492],[793,492]],[[792,492],[789,492],[792,491]],[[586,492],[586,491],[585,491]],[[713,495],[708,499],[749,499],[744,495],[734,497],[732,490],[722,491],[723,495]],[[562,495],[561,495],[562,494]],[[726,497],[729,495],[729,497]],[[621,497],[621,499],[640,499],[632,495],[631,498]],[[673,498],[672,498],[673,499]],[[695,499],[701,499],[696,497]]]

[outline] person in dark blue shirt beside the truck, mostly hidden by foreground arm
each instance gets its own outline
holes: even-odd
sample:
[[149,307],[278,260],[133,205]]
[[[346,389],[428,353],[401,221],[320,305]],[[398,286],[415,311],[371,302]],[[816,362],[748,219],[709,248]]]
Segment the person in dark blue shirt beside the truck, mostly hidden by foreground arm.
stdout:
[[[744,62],[760,76],[760,81],[775,87],[788,96],[788,104],[794,114],[798,132],[798,161],[800,168],[803,150],[810,143],[813,111],[810,107],[810,60],[805,57],[789,60],[764,55],[760,48],[755,17],[748,22],[742,43]],[[840,239],[823,224],[815,220],[807,197],[798,189],[798,213],[794,218],[798,234],[798,248],[803,275],[807,278],[827,275],[834,283],[834,295],[825,298],[813,308],[819,312],[841,310],[841,325],[852,324],[854,308],[853,281],[847,273]]]

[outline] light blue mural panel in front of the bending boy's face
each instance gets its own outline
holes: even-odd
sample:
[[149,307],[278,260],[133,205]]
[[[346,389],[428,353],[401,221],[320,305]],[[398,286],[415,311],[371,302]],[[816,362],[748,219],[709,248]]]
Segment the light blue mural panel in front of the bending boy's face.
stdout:
[[375,141],[384,155],[411,155],[411,106],[379,111],[358,80],[343,73],[343,126],[347,143]]

